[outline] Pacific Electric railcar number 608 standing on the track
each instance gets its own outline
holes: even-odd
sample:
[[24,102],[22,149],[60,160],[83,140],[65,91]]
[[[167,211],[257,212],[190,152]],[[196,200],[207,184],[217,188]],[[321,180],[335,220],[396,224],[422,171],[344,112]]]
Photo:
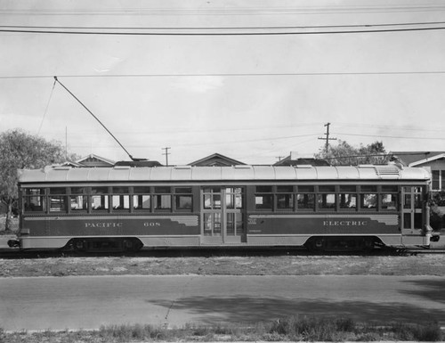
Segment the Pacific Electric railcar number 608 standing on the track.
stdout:
[[430,173],[388,166],[19,171],[20,248],[428,246]]

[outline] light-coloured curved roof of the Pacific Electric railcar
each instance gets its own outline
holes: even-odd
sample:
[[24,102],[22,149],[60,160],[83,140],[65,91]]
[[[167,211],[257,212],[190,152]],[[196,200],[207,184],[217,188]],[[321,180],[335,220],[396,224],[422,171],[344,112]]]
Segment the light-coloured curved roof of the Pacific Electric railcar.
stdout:
[[140,181],[428,180],[419,167],[232,166],[232,167],[44,167],[19,169],[20,183]]

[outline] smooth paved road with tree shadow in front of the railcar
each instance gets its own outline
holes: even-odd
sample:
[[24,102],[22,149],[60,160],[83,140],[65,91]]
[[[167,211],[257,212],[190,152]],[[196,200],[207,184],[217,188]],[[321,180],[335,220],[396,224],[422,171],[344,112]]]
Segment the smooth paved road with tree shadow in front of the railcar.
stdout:
[[7,331],[102,324],[246,323],[290,314],[440,320],[445,278],[419,276],[77,276],[0,279]]

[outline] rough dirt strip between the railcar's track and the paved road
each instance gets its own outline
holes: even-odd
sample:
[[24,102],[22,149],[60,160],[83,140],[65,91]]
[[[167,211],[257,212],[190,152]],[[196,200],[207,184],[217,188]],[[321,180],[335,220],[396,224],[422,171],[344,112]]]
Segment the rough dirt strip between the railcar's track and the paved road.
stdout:
[[417,256],[0,258],[0,277],[125,274],[445,276],[445,254]]

